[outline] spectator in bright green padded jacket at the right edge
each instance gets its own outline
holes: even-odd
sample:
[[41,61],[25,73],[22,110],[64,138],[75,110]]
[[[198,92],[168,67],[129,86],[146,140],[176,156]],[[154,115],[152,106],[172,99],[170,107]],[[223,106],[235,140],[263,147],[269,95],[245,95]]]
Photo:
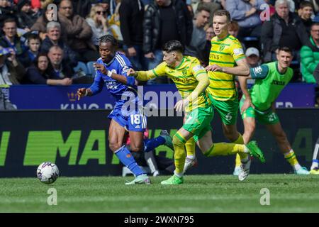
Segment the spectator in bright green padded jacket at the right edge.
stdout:
[[303,81],[315,83],[313,72],[319,63],[319,23],[313,23],[310,30],[310,42],[301,48],[301,74]]

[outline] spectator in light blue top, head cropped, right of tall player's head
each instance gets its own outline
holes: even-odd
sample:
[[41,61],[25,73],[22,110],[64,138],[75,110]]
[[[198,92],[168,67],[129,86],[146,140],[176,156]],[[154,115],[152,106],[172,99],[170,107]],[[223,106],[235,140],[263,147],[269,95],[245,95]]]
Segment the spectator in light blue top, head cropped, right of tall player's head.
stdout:
[[238,39],[246,36],[260,37],[262,21],[259,18],[264,0],[233,0],[226,1],[226,10],[229,11],[232,21],[237,21],[240,26]]

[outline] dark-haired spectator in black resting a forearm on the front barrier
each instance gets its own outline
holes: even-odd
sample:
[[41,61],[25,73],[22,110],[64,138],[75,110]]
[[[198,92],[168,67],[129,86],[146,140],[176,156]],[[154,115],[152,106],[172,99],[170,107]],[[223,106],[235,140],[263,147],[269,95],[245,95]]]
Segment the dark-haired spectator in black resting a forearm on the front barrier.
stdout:
[[34,65],[28,67],[26,71],[25,84],[48,84],[48,85],[71,85],[72,79],[52,79],[55,75],[52,74],[52,69],[49,66],[49,59],[47,54],[40,53],[36,58]]

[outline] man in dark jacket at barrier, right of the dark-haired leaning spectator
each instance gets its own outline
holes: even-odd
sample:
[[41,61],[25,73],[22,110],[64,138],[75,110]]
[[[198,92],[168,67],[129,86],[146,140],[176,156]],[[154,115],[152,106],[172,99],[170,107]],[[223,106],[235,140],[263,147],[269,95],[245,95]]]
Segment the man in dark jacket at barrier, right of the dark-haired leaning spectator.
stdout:
[[65,79],[74,76],[74,70],[63,61],[63,50],[58,45],[53,45],[47,57],[52,67],[52,79]]

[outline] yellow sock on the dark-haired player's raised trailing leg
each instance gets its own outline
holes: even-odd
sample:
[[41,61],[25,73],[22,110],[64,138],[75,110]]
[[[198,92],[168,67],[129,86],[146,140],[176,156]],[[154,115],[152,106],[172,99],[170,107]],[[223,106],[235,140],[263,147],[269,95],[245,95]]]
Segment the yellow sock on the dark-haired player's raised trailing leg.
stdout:
[[214,143],[211,148],[206,150],[204,155],[207,157],[218,155],[235,155],[237,153],[246,153],[245,145],[235,143]]

